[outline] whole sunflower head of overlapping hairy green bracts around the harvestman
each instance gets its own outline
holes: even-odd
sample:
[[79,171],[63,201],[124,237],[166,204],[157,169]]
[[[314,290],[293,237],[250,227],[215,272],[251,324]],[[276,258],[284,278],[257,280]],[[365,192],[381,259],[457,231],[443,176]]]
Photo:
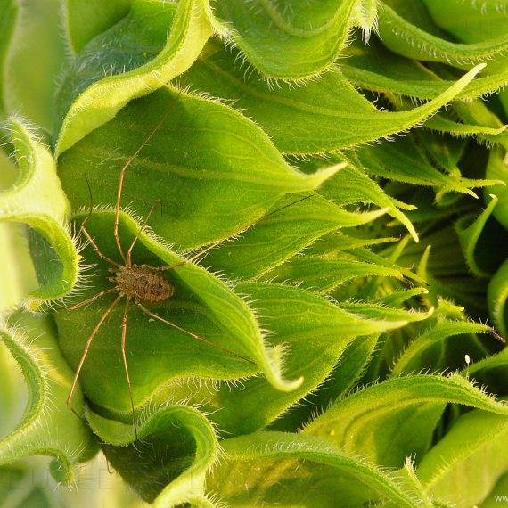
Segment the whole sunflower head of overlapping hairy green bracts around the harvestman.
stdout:
[[[40,286],[29,307],[68,295],[80,257],[94,272],[71,301],[108,287],[109,266],[90,246],[78,254],[64,220],[86,217],[88,181],[101,208],[88,227],[119,260],[119,168],[168,114],[127,171],[122,242],[156,200],[157,236],[140,235],[139,264],[175,263],[246,228],[201,266],[168,272],[176,298],[157,313],[252,363],[131,311],[133,443],[122,309],[81,374],[87,423],[65,408],[66,361],[76,367],[107,300],[18,315],[32,346],[13,321],[2,337],[31,404],[0,443],[1,463],[53,455],[69,482],[94,453],[90,426],[156,506],[469,506],[496,491],[508,408],[473,379],[506,395],[506,355],[482,323],[490,313],[506,333],[508,137],[497,91],[508,80],[508,37],[478,36],[452,18],[508,18],[496,0],[483,10],[453,0],[455,17],[443,4],[68,0],[74,58],[48,105],[58,164],[23,120],[4,130],[20,177],[0,194],[0,220],[35,230]],[[0,32],[7,114],[21,96],[5,86],[20,26],[16,4],[0,7],[9,13]],[[500,102],[479,99],[488,94]],[[468,439],[471,429],[487,437]],[[452,491],[450,481],[471,489]]]

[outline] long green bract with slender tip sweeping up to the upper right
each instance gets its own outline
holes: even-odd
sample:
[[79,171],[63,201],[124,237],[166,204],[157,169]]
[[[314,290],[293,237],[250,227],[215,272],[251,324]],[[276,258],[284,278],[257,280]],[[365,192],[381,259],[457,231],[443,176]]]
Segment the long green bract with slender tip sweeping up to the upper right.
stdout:
[[184,84],[234,101],[235,107],[266,126],[281,152],[293,154],[330,152],[419,125],[452,101],[484,67],[470,70],[430,102],[409,111],[389,112],[376,109],[339,67],[333,66],[306,86],[281,83],[273,88],[253,73],[245,75],[234,64],[236,56],[210,42],[184,75]]

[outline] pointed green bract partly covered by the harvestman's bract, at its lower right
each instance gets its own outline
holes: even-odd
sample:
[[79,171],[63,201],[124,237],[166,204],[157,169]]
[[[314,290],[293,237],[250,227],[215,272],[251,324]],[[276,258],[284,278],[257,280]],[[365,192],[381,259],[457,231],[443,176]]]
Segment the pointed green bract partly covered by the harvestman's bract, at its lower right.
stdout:
[[[291,286],[267,283],[241,283],[235,291],[252,300],[250,304],[269,331],[267,341],[287,351],[284,375],[303,377],[301,386],[283,393],[266,380],[253,378],[235,385],[223,384],[217,392],[186,389],[181,397],[207,400],[205,408],[221,411],[212,418],[230,434],[259,430],[282,414],[301,397],[324,381],[343,349],[355,337],[380,333],[407,323],[399,315],[384,320],[357,317],[328,300]],[[208,388],[208,389],[207,389]]]

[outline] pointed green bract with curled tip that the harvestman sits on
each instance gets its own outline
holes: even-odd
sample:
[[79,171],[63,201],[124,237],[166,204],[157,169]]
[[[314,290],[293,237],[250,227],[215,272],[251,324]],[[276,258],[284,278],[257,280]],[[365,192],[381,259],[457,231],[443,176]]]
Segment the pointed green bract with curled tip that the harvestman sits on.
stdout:
[[[111,234],[113,225],[113,212],[96,211],[86,222],[86,230],[97,239],[102,254],[119,263],[119,250]],[[120,226],[119,238],[123,250],[127,252],[128,245],[139,233],[140,225],[122,213]],[[84,250],[84,257],[87,263],[94,263],[96,267],[86,291],[74,298],[73,303],[85,301],[100,291],[114,287],[109,282],[111,272],[108,269],[111,265],[98,258],[91,247]],[[145,233],[140,234],[133,251],[133,262],[137,265],[173,266],[182,260],[152,235]],[[135,406],[143,405],[171,379],[237,379],[260,370],[275,389],[291,390],[301,384],[299,379],[283,379],[281,348],[265,346],[250,307],[225,283],[193,263],[163,274],[173,285],[174,296],[157,304],[143,301],[143,305],[155,315],[197,334],[202,340],[143,314],[142,309],[131,301],[126,350]],[[78,365],[86,340],[114,299],[115,295],[106,295],[74,311],[66,308],[57,311],[61,348],[72,367]],[[111,315],[94,337],[79,379],[86,396],[95,405],[117,412],[117,417],[124,412],[123,416],[129,418],[130,397],[120,348],[126,302],[127,299],[123,299],[113,307]],[[147,376],[147,373],[150,375]]]

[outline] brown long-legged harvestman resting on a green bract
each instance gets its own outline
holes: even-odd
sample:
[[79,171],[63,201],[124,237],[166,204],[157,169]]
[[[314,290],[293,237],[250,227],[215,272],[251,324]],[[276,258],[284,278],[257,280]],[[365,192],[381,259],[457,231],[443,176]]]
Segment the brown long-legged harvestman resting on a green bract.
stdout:
[[[132,408],[132,414],[133,414],[133,422],[134,422],[134,428],[135,428],[135,435],[137,438],[137,430],[135,426],[135,410],[134,410],[134,399],[132,396],[132,385],[130,381],[130,376],[128,372],[128,366],[127,366],[127,356],[126,356],[126,340],[127,340],[127,319],[128,319],[128,309],[129,305],[132,300],[134,300],[134,303],[137,307],[139,307],[144,314],[148,315],[149,317],[156,319],[160,321],[161,323],[168,324],[169,326],[176,328],[176,330],[179,330],[180,332],[184,332],[187,335],[193,337],[193,339],[201,340],[209,346],[212,346],[214,348],[221,349],[231,355],[234,355],[238,358],[241,358],[242,360],[245,360],[247,362],[250,362],[251,364],[254,364],[250,359],[245,358],[243,356],[237,355],[232,351],[231,349],[224,348],[223,346],[219,346],[218,344],[215,344],[213,342],[210,342],[209,340],[204,339],[200,335],[197,335],[193,332],[189,332],[185,330],[184,328],[178,326],[177,324],[171,323],[170,321],[160,317],[160,315],[154,314],[151,310],[149,310],[147,307],[144,307],[143,303],[159,303],[162,301],[165,301],[171,296],[173,296],[173,293],[175,291],[175,288],[173,284],[168,281],[166,277],[164,277],[161,272],[165,270],[172,270],[178,266],[184,266],[189,263],[193,263],[196,259],[200,258],[203,254],[205,254],[208,250],[213,249],[214,247],[217,247],[220,243],[224,242],[225,240],[219,240],[218,242],[214,242],[205,249],[201,250],[197,254],[194,254],[193,257],[185,259],[184,261],[181,261],[177,263],[176,265],[170,265],[170,266],[150,266],[150,265],[135,265],[132,262],[132,251],[135,247],[135,243],[137,242],[139,236],[142,234],[143,229],[148,224],[148,220],[151,217],[153,210],[157,206],[157,201],[153,203],[152,208],[148,212],[148,215],[143,221],[143,225],[139,228],[137,234],[135,234],[134,240],[131,242],[128,250],[127,255],[122,247],[122,244],[119,239],[119,214],[120,214],[120,201],[122,197],[122,189],[124,184],[124,176],[126,174],[127,168],[132,164],[132,162],[135,160],[136,157],[140,154],[140,152],[143,150],[143,148],[146,146],[147,143],[150,142],[152,139],[152,136],[159,130],[159,128],[162,126],[162,124],[168,119],[169,112],[164,116],[163,119],[160,120],[160,122],[152,129],[152,132],[146,136],[143,143],[139,146],[139,148],[135,151],[135,153],[127,160],[125,165],[120,169],[119,172],[119,186],[118,186],[118,193],[117,193],[117,202],[115,206],[115,225],[114,225],[114,237],[115,242],[117,244],[119,255],[123,260],[123,265],[120,263],[117,263],[111,258],[108,258],[104,254],[102,254],[102,251],[99,249],[97,244],[95,243],[94,239],[92,238],[91,234],[88,233],[86,230],[86,221],[90,218],[92,215],[92,206],[90,205],[89,213],[86,216],[86,218],[83,220],[79,227],[79,232],[81,234],[84,234],[86,237],[87,242],[94,248],[95,253],[99,258],[102,258],[104,261],[109,263],[112,267],[109,268],[109,272],[111,272],[111,277],[109,277],[109,281],[111,283],[114,283],[115,285],[111,287],[110,289],[100,291],[97,294],[95,294],[93,297],[86,299],[84,301],[79,302],[76,305],[73,305],[69,307],[70,310],[76,310],[79,307],[84,307],[92,302],[94,302],[96,299],[102,298],[102,296],[111,294],[113,292],[118,292],[117,297],[113,300],[111,305],[106,309],[104,314],[102,315],[99,322],[95,325],[93,332],[90,334],[88,339],[86,340],[86,346],[85,350],[83,351],[83,355],[81,356],[81,359],[78,363],[78,368],[76,369],[76,373],[74,375],[74,379],[72,381],[72,384],[70,386],[69,395],[67,397],[67,406],[72,410],[73,413],[78,413],[74,410],[72,407],[72,396],[74,394],[74,390],[76,389],[76,384],[78,383],[78,377],[81,373],[81,369],[85,363],[86,356],[88,354],[88,351],[90,350],[90,346],[92,344],[92,340],[94,340],[95,335],[97,332],[99,332],[100,328],[102,327],[102,324],[105,323],[108,316],[111,314],[111,311],[114,307],[119,303],[120,299],[126,298],[126,304],[122,319],[122,332],[121,332],[121,350],[122,350],[122,359],[123,359],[123,365],[124,370],[126,373],[127,378],[127,387],[130,397],[130,403]],[[88,182],[86,182],[88,183]],[[247,226],[249,227],[249,226]],[[245,228],[242,228],[245,229]],[[242,231],[242,230],[240,230]],[[238,233],[240,233],[240,231]],[[80,417],[78,415],[78,417]]]

